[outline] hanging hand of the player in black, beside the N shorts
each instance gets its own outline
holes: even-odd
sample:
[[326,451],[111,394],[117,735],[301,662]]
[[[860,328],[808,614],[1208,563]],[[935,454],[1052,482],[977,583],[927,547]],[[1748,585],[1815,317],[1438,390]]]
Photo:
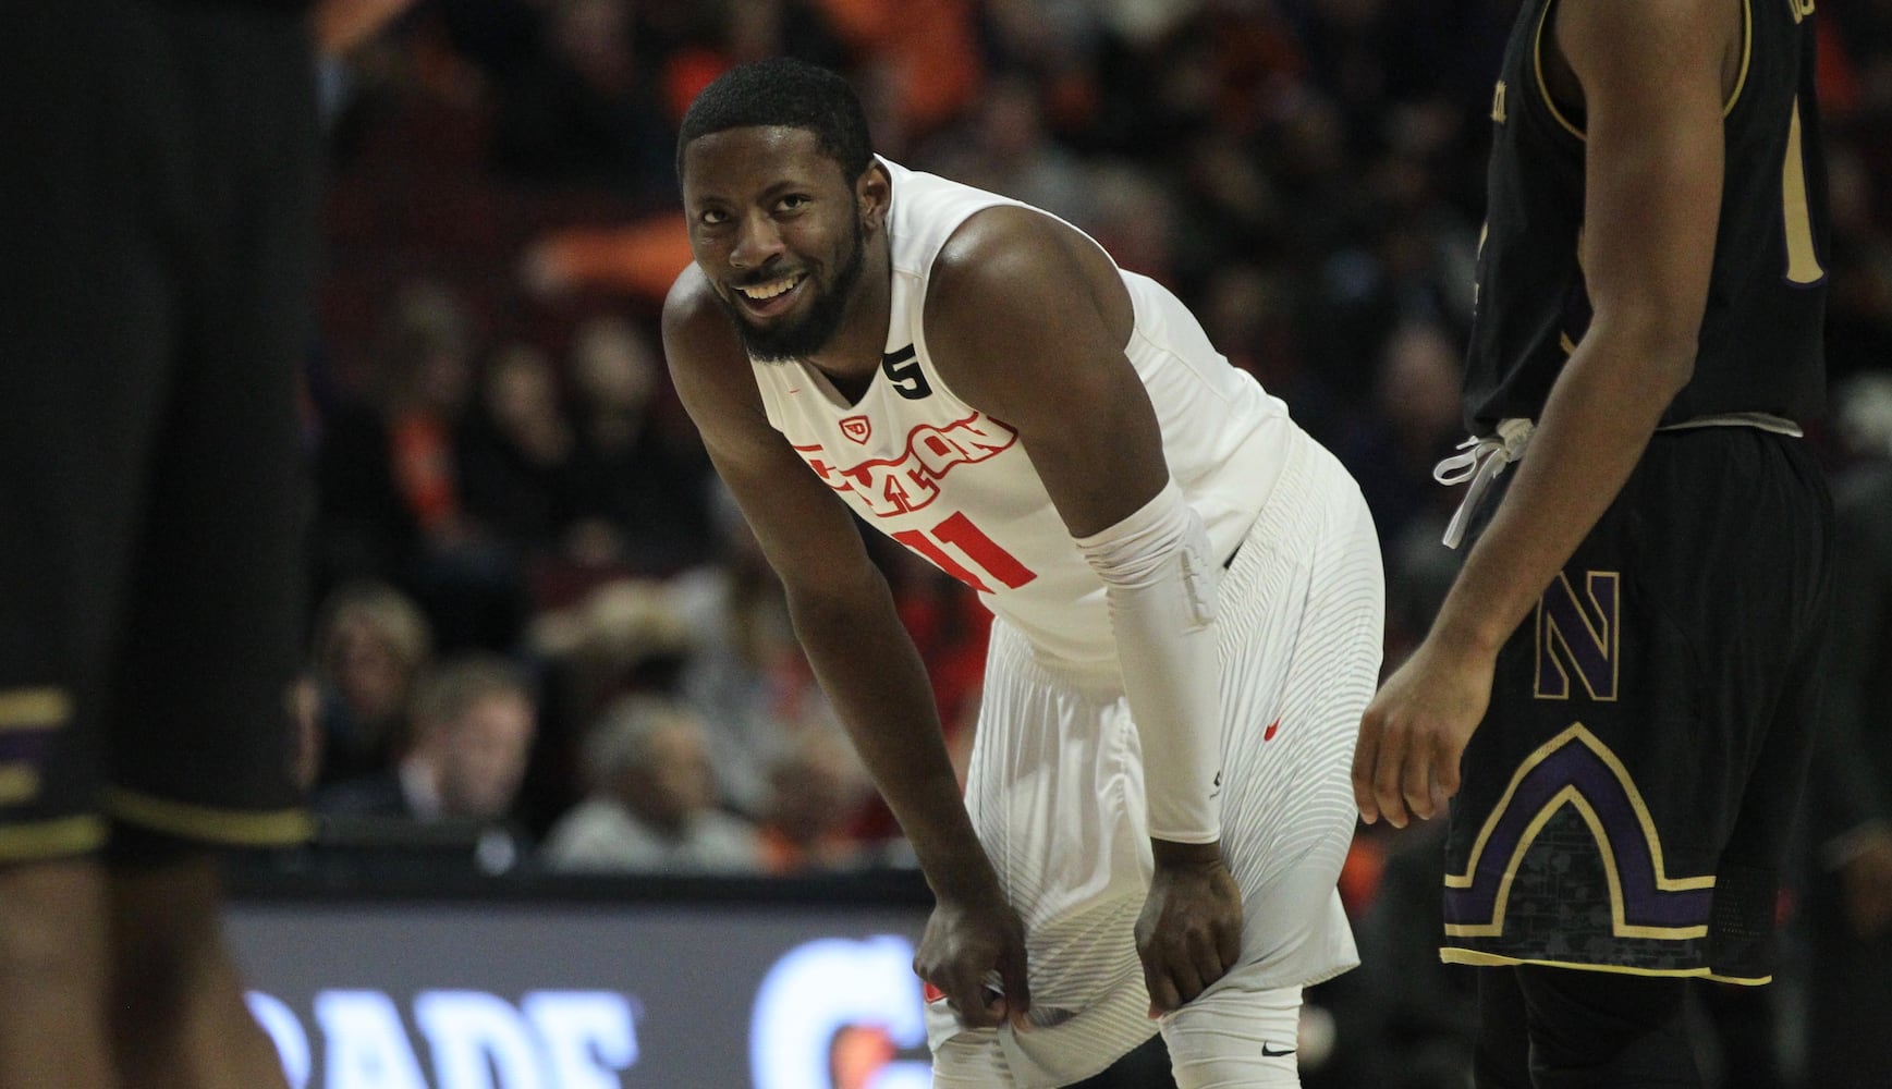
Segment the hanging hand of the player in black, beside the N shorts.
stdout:
[[1381,684],[1360,718],[1353,800],[1360,819],[1404,828],[1430,821],[1459,792],[1459,756],[1491,703],[1495,660],[1427,639]]

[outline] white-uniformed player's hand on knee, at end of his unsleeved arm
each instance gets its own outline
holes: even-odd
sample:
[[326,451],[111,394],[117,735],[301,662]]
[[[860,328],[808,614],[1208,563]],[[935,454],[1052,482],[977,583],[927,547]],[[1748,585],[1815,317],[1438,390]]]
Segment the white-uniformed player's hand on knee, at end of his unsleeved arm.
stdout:
[[946,994],[967,1028],[993,1028],[1010,1019],[1031,1023],[1025,983],[1025,926],[1003,898],[963,902],[940,898],[914,953],[914,972]]

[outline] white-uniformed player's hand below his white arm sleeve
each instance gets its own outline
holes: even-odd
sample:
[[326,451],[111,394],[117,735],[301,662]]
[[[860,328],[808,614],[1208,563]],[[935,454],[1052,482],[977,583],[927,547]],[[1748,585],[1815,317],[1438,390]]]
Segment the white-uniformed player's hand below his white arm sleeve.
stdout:
[[1203,993],[1241,959],[1241,889],[1220,843],[1156,847],[1156,873],[1137,917],[1137,957],[1150,989],[1150,1017]]

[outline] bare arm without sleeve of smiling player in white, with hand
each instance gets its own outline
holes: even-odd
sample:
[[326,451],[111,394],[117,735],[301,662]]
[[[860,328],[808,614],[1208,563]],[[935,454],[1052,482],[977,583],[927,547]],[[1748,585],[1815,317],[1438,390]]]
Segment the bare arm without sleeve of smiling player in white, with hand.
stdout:
[[[940,911],[976,919],[944,928],[954,947],[921,964],[921,976],[967,1025],[1022,1019],[1031,1004],[1024,932],[961,804],[920,654],[848,507],[770,427],[749,359],[696,267],[664,304],[664,352],[717,473],[781,577],[808,662],[912,841]],[[1005,1002],[986,993],[993,968]]]

